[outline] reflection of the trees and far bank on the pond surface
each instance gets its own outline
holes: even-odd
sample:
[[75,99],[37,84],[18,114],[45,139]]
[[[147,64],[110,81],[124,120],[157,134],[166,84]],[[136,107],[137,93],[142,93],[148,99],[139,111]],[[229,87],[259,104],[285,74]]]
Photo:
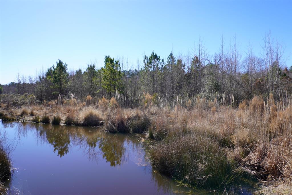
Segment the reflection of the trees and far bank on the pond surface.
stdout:
[[[110,163],[110,166],[119,166],[126,160],[129,151],[134,150],[136,144],[131,137],[124,134],[109,134],[102,129],[63,126],[39,123],[10,123],[15,128],[18,125],[19,139],[33,133],[37,144],[49,143],[54,147],[54,152],[62,157],[73,146],[80,147],[88,159],[98,161],[98,156]],[[131,144],[129,144],[131,143]],[[129,145],[131,148],[129,148]]]

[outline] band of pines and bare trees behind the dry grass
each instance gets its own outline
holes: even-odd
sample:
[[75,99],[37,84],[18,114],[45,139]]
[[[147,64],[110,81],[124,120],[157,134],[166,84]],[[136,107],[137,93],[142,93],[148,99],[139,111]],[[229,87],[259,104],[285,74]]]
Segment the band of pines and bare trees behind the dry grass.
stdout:
[[171,52],[167,59],[161,59],[152,51],[136,65],[105,56],[104,67],[96,69],[95,64],[88,64],[85,71],[68,71],[67,64],[58,60],[39,75],[18,73],[15,82],[0,86],[0,93],[33,95],[40,102],[115,96],[124,106],[139,105],[144,93],[152,94],[161,106],[185,104],[196,95],[229,97],[232,105],[255,95],[273,93],[276,100],[292,95],[292,66],[286,65],[284,49],[270,33],[263,38],[258,56],[251,46],[240,53],[235,36],[228,47],[224,45],[222,36],[219,52],[209,55],[199,39],[192,55]]

